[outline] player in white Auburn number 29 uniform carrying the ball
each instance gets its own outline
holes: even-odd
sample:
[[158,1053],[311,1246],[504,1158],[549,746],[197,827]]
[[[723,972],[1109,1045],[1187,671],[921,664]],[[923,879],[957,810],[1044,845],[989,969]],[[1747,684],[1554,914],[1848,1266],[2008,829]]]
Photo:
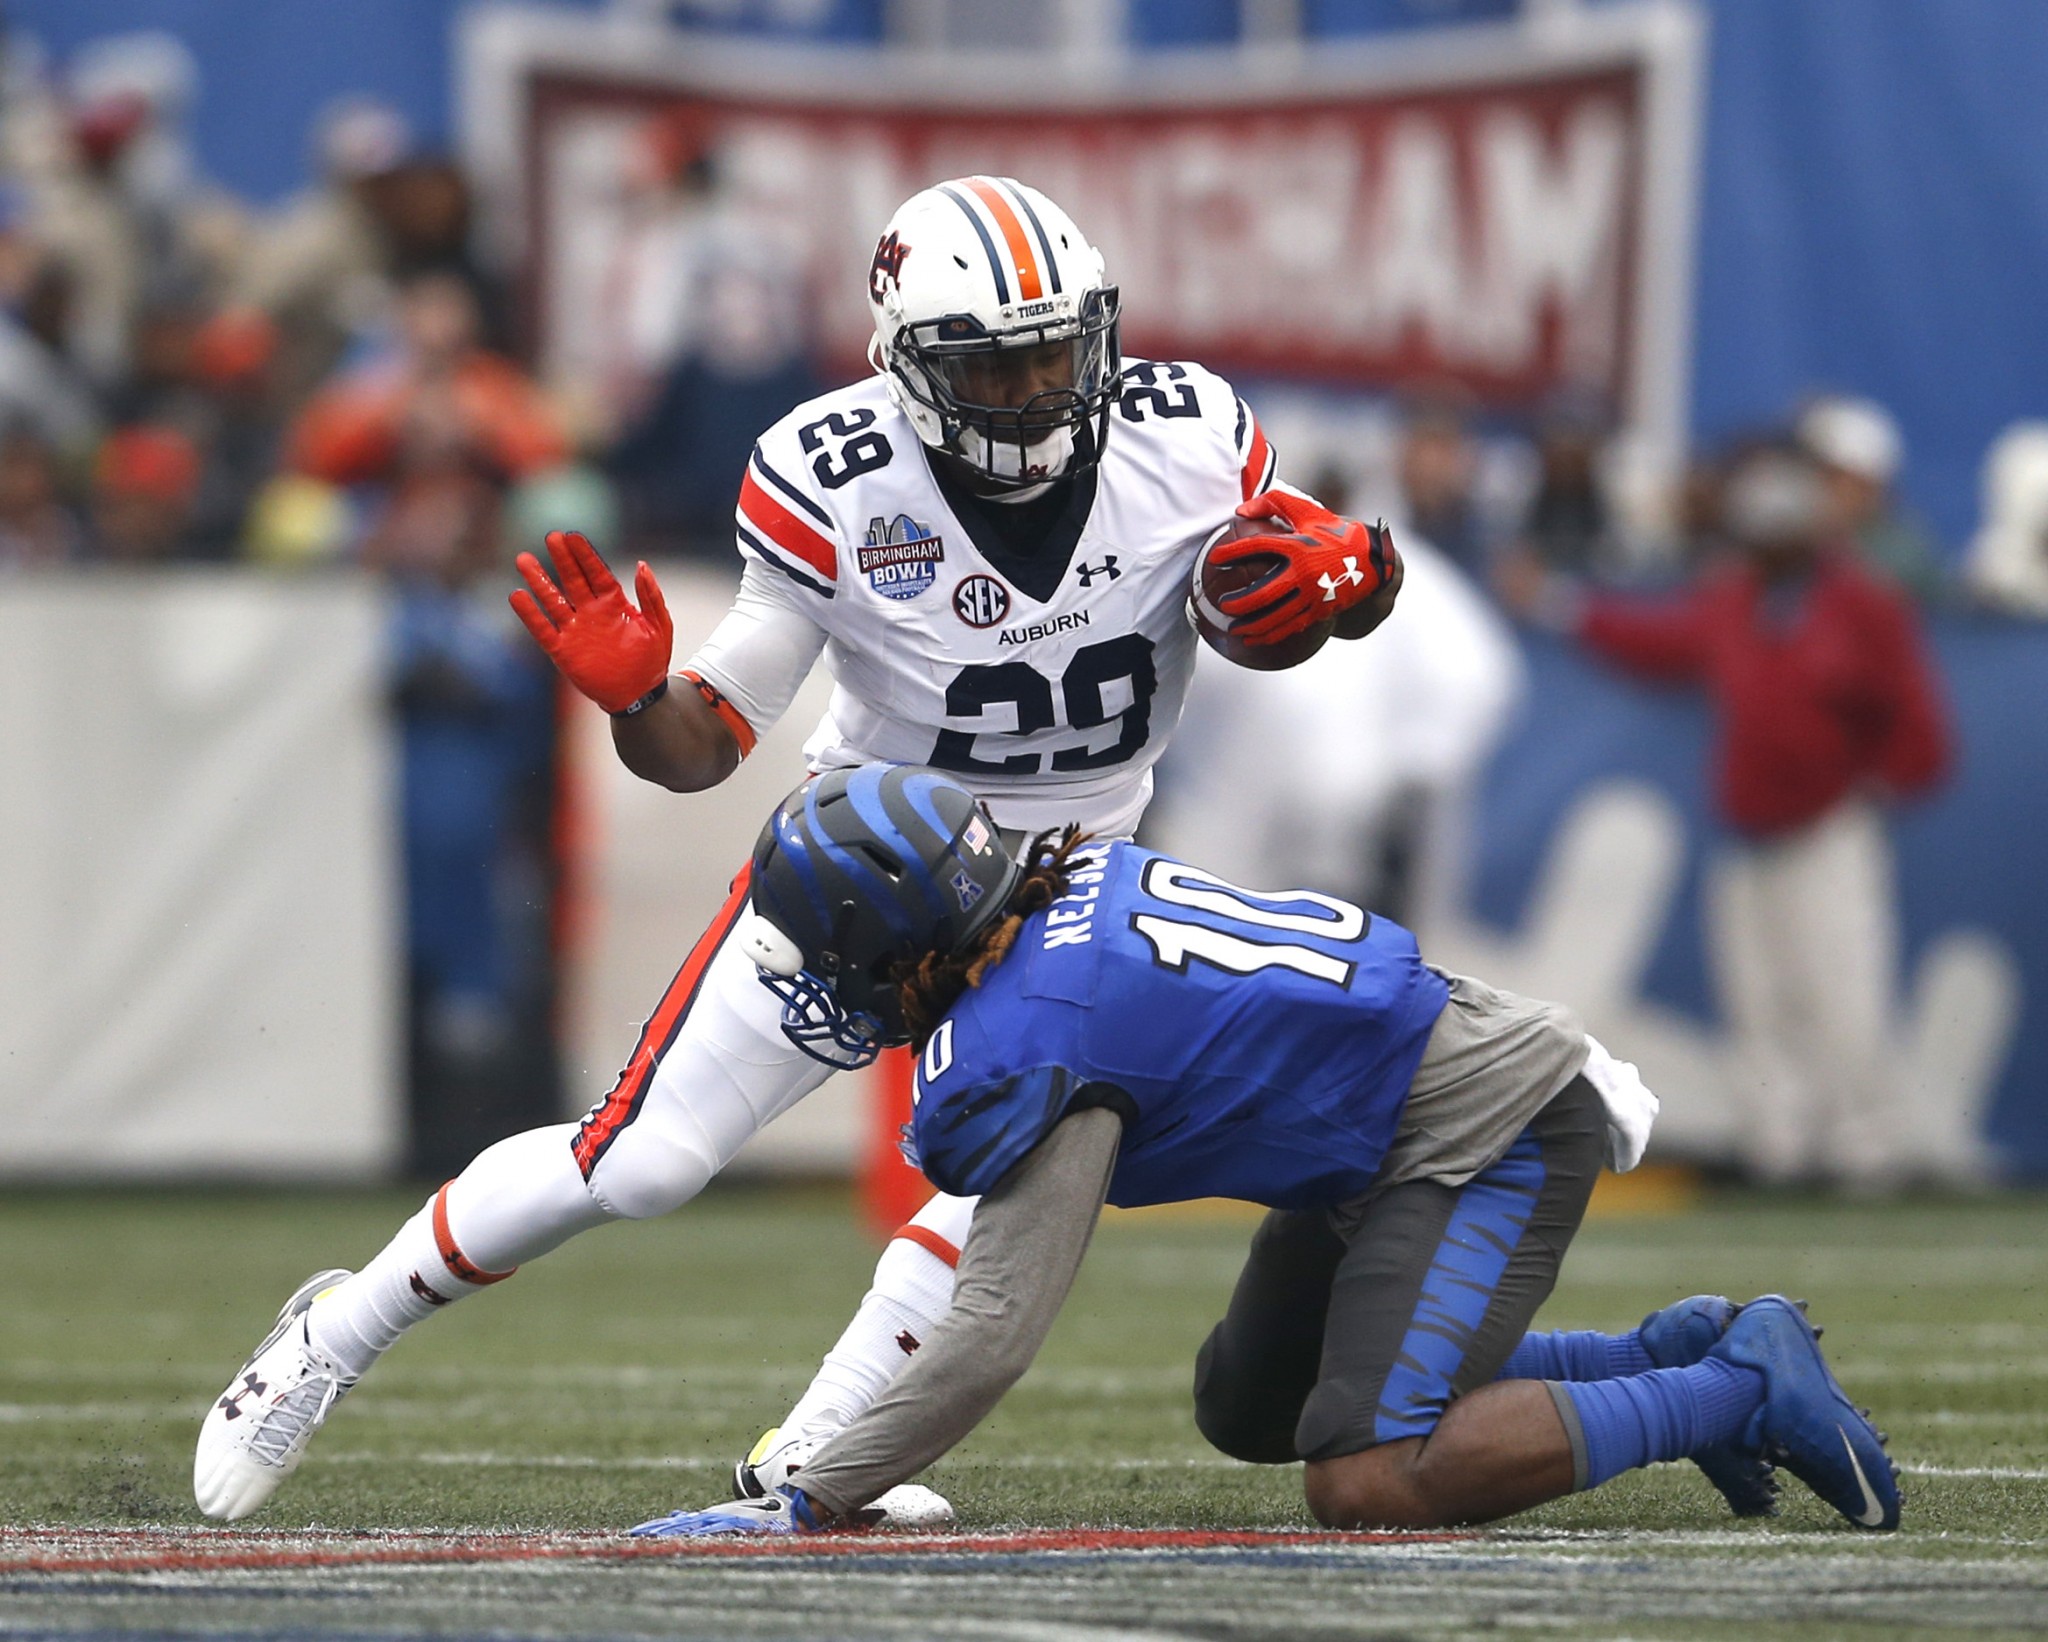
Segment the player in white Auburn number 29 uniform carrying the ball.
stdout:
[[[557,579],[520,555],[514,608],[612,715],[635,774],[678,792],[725,780],[825,651],[838,688],[805,747],[813,768],[932,764],[1006,829],[1124,835],[1194,665],[1190,565],[1235,510],[1284,508],[1294,526],[1227,549],[1268,555],[1229,602],[1237,631],[1280,641],[1335,612],[1358,637],[1384,616],[1399,588],[1384,532],[1276,493],[1266,436],[1219,377],[1126,364],[1102,256],[1044,195],[989,176],[926,188],[885,229],[868,297],[877,377],[762,436],[739,491],[739,594],[678,674],[647,565],[635,608],[582,536],[549,536]],[[872,1034],[805,1034],[762,985],[745,905],[741,870],[582,1122],[489,1147],[369,1265],[287,1300],[201,1427],[207,1515],[270,1499],[414,1323],[580,1230],[686,1204],[834,1067],[874,1056]],[[946,1314],[971,1214],[936,1198],[889,1245],[743,1486],[778,1484],[881,1394]],[[926,1490],[881,1505],[909,1523],[948,1515]]]

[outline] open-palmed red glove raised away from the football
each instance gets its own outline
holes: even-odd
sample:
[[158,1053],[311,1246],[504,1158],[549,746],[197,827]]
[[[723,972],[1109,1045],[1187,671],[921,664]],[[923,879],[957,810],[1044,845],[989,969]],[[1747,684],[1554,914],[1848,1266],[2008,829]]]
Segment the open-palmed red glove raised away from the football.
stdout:
[[[512,614],[561,667],[561,676],[606,712],[631,712],[668,684],[668,655],[676,629],[645,561],[633,575],[641,608],[627,602],[590,538],[580,530],[549,530],[547,557],[555,561],[557,588],[541,561],[520,553],[524,588],[512,592]],[[528,592],[530,590],[530,592]]]

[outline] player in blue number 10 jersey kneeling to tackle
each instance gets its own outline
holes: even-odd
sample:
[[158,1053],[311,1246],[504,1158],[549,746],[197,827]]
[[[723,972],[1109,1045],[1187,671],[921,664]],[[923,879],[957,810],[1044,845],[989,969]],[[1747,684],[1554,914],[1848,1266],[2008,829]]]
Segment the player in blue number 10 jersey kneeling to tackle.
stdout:
[[784,1030],[920,1050],[905,1140],[983,1194],[950,1316],[764,1499],[637,1533],[807,1531],[965,1437],[1024,1374],[1104,1202],[1270,1206],[1194,1370],[1202,1433],[1303,1460],[1329,1527],[1442,1527],[1694,1458],[1743,1515],[1774,1464],[1898,1525],[1882,1433],[1802,1308],[1679,1300],[1640,1329],[1528,1333],[1602,1161],[1655,1099],[1569,1011],[1448,977],[1313,891],[1251,893],[1071,829],[1022,858],[973,794],[870,764],[801,786],[737,940]]

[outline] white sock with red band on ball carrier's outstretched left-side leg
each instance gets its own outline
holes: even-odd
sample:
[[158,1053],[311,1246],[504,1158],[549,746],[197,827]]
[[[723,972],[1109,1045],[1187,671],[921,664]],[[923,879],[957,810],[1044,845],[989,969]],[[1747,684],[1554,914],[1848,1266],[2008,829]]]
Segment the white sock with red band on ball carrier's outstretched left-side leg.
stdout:
[[584,1187],[573,1136],[575,1124],[555,1124],[479,1153],[369,1265],[313,1302],[313,1345],[360,1378],[414,1323],[610,1218]]

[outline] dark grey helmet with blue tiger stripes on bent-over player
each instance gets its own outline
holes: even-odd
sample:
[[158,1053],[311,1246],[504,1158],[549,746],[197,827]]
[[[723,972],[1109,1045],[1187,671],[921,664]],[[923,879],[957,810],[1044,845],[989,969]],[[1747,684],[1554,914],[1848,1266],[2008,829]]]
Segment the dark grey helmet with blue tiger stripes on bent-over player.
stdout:
[[741,950],[782,999],[782,1032],[831,1067],[905,1042],[895,968],[956,952],[995,917],[1018,862],[981,803],[913,764],[813,776],[754,846]]

